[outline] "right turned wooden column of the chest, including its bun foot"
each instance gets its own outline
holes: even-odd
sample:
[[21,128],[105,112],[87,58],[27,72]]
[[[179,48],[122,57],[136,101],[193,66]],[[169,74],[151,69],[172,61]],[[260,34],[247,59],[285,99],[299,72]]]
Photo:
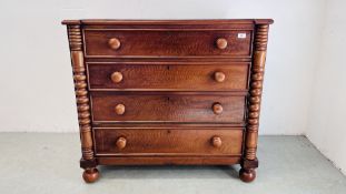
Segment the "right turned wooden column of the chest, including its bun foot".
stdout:
[[255,169],[258,167],[256,157],[259,112],[263,91],[264,70],[268,41],[269,24],[257,24],[255,30],[250,85],[247,99],[248,119],[245,136],[244,159],[241,162],[240,178],[251,182],[256,177]]

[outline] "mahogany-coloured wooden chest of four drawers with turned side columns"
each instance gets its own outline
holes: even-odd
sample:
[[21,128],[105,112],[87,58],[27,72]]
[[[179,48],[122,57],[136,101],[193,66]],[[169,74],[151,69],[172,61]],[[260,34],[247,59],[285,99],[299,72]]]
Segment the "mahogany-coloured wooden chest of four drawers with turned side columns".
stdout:
[[97,165],[240,164],[256,177],[259,20],[66,20],[86,182]]

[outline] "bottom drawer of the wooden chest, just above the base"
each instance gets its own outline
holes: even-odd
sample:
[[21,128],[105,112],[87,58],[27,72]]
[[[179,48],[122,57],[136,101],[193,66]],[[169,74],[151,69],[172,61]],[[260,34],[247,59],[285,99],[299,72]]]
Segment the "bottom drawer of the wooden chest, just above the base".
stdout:
[[241,129],[96,129],[98,155],[240,155]]

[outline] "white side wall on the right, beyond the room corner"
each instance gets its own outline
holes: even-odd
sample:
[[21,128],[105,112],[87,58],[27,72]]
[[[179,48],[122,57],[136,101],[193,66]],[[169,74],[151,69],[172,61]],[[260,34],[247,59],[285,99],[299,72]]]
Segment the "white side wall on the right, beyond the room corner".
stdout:
[[316,63],[308,139],[346,174],[346,1],[328,1]]

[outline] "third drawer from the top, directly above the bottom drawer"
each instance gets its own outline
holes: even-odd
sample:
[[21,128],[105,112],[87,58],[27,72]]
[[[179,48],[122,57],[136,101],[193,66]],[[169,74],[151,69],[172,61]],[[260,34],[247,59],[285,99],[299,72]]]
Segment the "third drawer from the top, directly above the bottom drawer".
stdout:
[[245,96],[91,92],[93,122],[240,123]]

